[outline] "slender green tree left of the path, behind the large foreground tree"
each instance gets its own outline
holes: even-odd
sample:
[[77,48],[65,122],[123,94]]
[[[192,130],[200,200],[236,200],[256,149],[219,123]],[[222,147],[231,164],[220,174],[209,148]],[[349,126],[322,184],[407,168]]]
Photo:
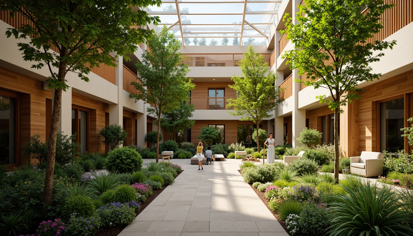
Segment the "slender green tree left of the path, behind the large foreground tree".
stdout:
[[130,98],[144,100],[152,106],[147,108],[150,114],[156,114],[158,119],[158,138],[156,146],[156,162],[159,161],[159,134],[161,132],[161,115],[178,108],[183,101],[188,100],[188,91],[195,88],[187,79],[188,65],[180,66],[180,45],[169,33],[166,26],[159,36],[154,36],[147,42],[150,52],[142,54],[142,63],[136,63],[140,77],[139,82],[131,84],[139,93],[131,93]]

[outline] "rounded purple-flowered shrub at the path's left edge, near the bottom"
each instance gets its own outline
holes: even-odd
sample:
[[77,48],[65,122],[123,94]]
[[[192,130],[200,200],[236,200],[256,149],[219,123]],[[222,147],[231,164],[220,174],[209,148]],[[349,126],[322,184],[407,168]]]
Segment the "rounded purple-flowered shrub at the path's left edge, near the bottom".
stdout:
[[131,224],[135,219],[135,209],[130,204],[110,203],[96,210],[103,227]]

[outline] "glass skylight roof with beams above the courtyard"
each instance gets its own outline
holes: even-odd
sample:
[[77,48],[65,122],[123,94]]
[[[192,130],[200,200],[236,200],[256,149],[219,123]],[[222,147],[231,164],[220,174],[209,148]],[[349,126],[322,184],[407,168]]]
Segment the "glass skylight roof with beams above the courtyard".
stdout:
[[155,30],[166,25],[183,45],[195,45],[195,39],[206,45],[264,45],[280,4],[281,0],[163,0],[160,7],[146,10],[161,20]]

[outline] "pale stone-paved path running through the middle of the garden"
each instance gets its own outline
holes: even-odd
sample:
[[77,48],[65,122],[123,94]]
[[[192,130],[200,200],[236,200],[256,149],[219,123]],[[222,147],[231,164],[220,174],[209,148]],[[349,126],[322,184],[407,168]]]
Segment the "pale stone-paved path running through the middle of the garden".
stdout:
[[204,170],[189,159],[171,162],[184,171],[119,236],[288,236],[242,179],[241,160]]

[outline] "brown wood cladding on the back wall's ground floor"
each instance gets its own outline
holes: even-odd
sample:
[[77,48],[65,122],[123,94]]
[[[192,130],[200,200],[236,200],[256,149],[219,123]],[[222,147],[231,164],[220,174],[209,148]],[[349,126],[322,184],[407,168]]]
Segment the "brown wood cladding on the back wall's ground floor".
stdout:
[[[197,120],[195,125],[191,127],[191,141],[194,144],[199,143],[199,133],[201,129],[208,125],[224,125],[225,126],[225,143],[236,143],[238,141],[238,125],[239,124],[252,124],[255,126],[254,122],[250,121],[239,121],[239,120]],[[268,122],[261,122],[262,129],[268,129]],[[168,133],[166,133],[168,134]]]

